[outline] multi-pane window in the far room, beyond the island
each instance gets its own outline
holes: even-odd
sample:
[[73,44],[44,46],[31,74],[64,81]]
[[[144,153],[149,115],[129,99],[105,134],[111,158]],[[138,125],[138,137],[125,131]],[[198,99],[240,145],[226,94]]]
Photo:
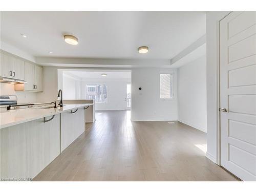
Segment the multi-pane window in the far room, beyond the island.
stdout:
[[87,99],[94,99],[96,103],[105,103],[107,100],[107,92],[105,84],[88,84]]

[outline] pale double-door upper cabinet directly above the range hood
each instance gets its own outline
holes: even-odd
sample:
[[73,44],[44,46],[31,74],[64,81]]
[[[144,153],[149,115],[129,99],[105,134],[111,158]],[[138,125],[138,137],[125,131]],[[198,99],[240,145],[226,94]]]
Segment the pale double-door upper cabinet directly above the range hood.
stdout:
[[1,77],[24,80],[24,61],[1,53]]

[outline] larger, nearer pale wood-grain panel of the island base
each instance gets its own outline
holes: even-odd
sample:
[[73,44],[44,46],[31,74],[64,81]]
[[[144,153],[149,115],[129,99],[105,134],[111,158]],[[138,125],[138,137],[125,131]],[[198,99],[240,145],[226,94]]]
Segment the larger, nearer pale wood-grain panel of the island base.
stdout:
[[6,127],[0,136],[1,180],[32,179],[60,154],[60,114]]

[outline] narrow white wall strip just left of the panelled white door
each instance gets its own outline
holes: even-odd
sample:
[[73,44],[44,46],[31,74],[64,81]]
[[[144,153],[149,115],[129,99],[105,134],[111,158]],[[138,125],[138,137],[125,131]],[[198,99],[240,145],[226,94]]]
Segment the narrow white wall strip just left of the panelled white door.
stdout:
[[229,11],[210,11],[206,14],[206,71],[207,71],[207,153],[206,157],[217,162],[217,132],[219,114],[218,96],[218,22]]

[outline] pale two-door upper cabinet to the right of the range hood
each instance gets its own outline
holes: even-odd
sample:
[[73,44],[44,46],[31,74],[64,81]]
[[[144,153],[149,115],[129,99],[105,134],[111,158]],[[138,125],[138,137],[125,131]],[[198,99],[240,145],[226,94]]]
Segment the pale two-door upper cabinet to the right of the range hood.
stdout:
[[[25,81],[24,91],[42,91],[42,67],[25,62]],[[16,86],[15,90],[20,90]]]

